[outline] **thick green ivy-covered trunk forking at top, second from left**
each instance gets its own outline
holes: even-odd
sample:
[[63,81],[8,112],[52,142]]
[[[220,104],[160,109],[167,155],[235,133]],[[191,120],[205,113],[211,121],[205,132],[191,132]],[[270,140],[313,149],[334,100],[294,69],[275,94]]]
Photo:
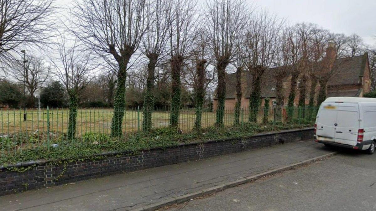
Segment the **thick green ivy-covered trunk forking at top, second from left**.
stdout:
[[120,137],[123,129],[123,118],[125,112],[125,82],[127,79],[127,65],[130,55],[117,58],[119,71],[117,74],[118,83],[114,99],[114,116],[112,116],[111,121],[112,137]]

